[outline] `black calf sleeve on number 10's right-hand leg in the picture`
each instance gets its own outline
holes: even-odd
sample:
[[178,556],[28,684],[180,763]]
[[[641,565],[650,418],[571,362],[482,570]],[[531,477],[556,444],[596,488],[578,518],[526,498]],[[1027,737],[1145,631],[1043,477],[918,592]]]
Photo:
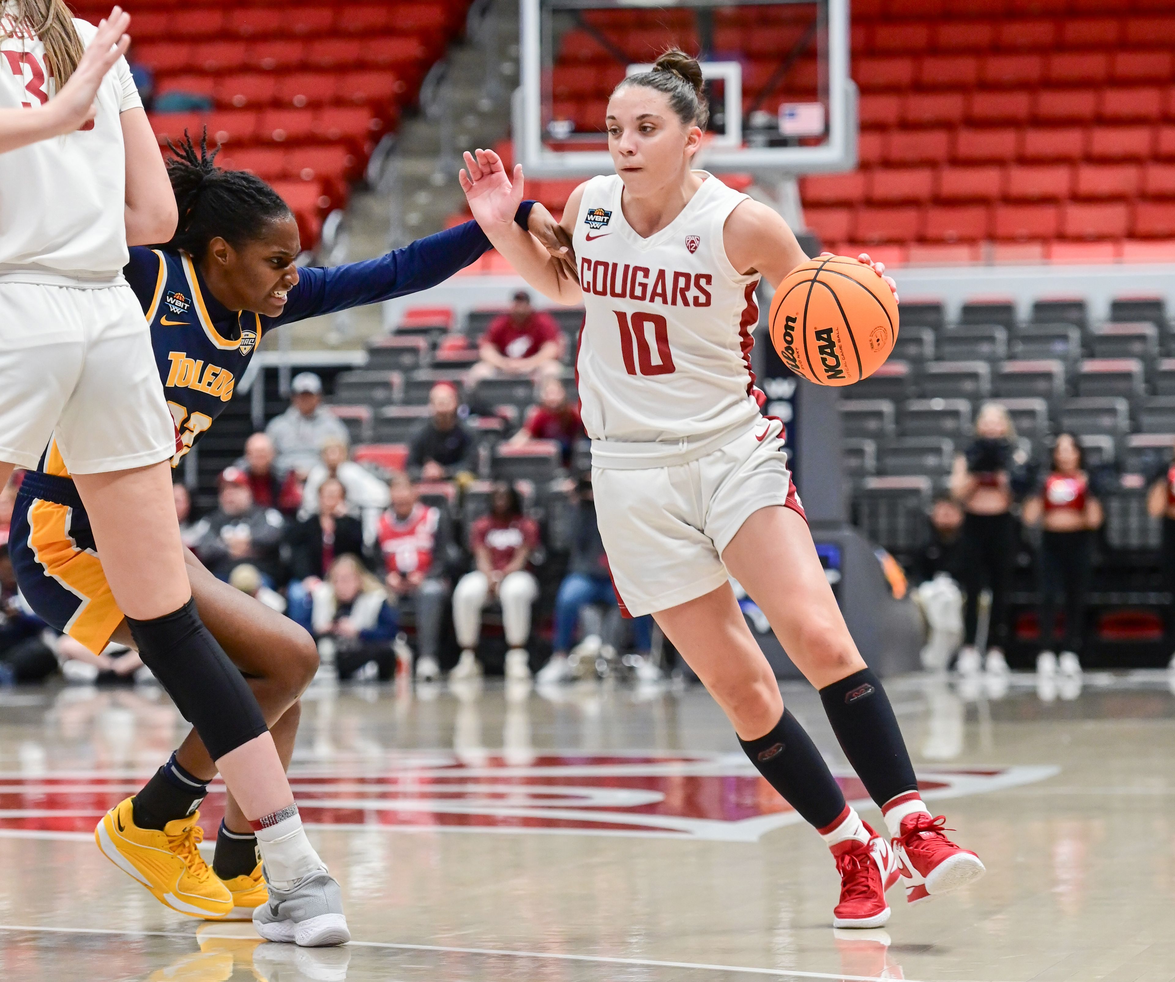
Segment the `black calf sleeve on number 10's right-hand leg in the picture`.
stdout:
[[845,756],[878,806],[918,789],[898,718],[872,668],[825,686],[820,699]]

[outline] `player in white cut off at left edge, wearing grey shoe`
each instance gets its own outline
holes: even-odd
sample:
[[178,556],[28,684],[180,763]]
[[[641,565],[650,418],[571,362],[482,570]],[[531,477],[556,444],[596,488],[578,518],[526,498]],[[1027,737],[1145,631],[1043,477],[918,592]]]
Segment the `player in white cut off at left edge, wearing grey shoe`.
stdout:
[[[0,486],[14,466],[36,468],[54,439],[102,557],[74,550],[73,579],[105,573],[143,661],[258,828],[270,894],[257,929],[271,941],[337,944],[350,937],[338,885],[302,830],[256,699],[192,600],[170,487],[175,424],[122,277],[127,246],[166,242],[177,220],[122,56],[129,21],[115,7],[95,28],[63,0],[0,5]],[[69,540],[73,512],[56,513]],[[173,825],[155,833],[154,850],[139,843],[154,859],[137,866],[110,841],[125,829],[100,825],[95,836],[173,907],[203,910],[209,885],[223,887],[193,880],[170,840],[187,836],[194,852],[195,826]]]

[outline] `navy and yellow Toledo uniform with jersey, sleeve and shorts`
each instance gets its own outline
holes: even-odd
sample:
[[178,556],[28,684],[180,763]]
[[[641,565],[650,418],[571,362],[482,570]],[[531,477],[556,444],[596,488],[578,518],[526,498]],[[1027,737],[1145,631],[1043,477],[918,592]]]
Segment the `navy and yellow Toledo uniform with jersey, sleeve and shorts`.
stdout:
[[[525,228],[530,202],[517,221]],[[155,363],[176,425],[175,466],[208,431],[244,375],[262,336],[282,324],[428,289],[490,248],[476,222],[421,238],[376,260],[298,270],[278,317],[229,310],[179,250],[130,249],[123,270],[150,324]],[[95,406],[100,411],[100,406]],[[106,583],[89,518],[51,444],[25,476],[8,539],[20,591],[47,624],[98,653],[122,621]]]

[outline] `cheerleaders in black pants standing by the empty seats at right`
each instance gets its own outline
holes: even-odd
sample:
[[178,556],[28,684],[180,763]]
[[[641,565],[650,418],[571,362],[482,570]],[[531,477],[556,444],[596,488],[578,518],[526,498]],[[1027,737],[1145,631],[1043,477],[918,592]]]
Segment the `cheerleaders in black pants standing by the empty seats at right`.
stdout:
[[[1006,675],[1009,597],[1019,577],[1038,597],[1038,675],[1080,679],[1104,523],[1101,499],[1116,480],[1112,468],[1087,465],[1074,433],[1056,435],[1043,459],[1034,459],[1007,410],[983,404],[947,492],[931,506],[928,542],[912,564],[931,628],[927,667],[946,667],[956,652],[965,677]],[[1175,465],[1156,466],[1142,480],[1147,511],[1162,523],[1163,587],[1175,592]],[[1164,621],[1170,652],[1175,616],[1167,611]]]

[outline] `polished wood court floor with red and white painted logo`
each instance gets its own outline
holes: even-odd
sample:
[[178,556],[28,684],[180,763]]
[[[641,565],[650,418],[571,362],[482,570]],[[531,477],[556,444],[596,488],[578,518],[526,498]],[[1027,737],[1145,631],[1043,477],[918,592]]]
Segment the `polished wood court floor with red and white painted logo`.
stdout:
[[[1167,674],[888,687],[988,875],[833,931],[827,850],[699,688],[315,686],[291,776],[355,936],[325,951],[173,914],[94,847],[182,735],[157,691],[2,691],[0,980],[1175,978]],[[785,699],[861,798],[814,693]]]

